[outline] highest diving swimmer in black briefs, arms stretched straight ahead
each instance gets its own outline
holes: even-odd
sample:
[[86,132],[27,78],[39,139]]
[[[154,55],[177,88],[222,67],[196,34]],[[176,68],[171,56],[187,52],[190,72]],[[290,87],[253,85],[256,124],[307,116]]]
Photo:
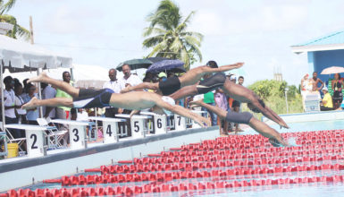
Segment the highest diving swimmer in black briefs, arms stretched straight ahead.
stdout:
[[222,65],[216,68],[211,67],[209,65],[198,66],[196,68],[189,70],[187,73],[183,74],[180,77],[174,76],[167,78],[166,81],[160,81],[155,83],[142,82],[136,86],[127,87],[123,89],[121,93],[129,92],[131,90],[150,89],[156,90],[158,94],[167,96],[177,90],[180,90],[180,88],[182,87],[197,83],[197,81],[201,80],[201,78],[207,73],[219,73],[230,71],[232,69],[241,67],[243,64],[244,63]]

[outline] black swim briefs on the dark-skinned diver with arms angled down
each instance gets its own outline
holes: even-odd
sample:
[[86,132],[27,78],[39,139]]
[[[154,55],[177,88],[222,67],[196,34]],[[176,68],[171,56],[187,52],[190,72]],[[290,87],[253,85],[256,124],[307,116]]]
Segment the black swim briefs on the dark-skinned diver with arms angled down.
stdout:
[[226,75],[224,73],[215,73],[212,77],[199,81],[197,92],[198,94],[206,94],[209,91],[222,88],[224,81],[226,81]]

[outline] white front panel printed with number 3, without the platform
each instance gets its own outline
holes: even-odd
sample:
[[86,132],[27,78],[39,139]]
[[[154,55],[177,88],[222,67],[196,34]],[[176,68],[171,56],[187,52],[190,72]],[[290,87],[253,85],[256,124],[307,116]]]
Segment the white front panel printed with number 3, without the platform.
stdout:
[[71,150],[86,148],[86,134],[84,125],[70,125]]

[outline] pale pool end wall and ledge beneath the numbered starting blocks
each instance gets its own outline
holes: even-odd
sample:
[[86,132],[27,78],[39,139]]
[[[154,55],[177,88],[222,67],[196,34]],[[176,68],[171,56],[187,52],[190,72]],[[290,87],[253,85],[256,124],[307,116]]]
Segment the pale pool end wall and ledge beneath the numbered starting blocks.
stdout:
[[188,129],[180,132],[148,135],[142,139],[120,140],[117,143],[91,143],[83,150],[49,150],[40,158],[7,158],[0,160],[0,192],[79,173],[87,168],[115,164],[120,160],[141,158],[184,144],[219,137],[219,127]]

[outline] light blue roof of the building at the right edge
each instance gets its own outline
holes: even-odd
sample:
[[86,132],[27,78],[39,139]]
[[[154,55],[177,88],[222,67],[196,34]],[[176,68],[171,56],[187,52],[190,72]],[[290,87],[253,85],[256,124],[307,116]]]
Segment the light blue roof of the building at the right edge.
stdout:
[[344,30],[332,32],[323,37],[308,40],[304,43],[291,46],[294,53],[303,53],[308,51],[325,51],[344,49]]

